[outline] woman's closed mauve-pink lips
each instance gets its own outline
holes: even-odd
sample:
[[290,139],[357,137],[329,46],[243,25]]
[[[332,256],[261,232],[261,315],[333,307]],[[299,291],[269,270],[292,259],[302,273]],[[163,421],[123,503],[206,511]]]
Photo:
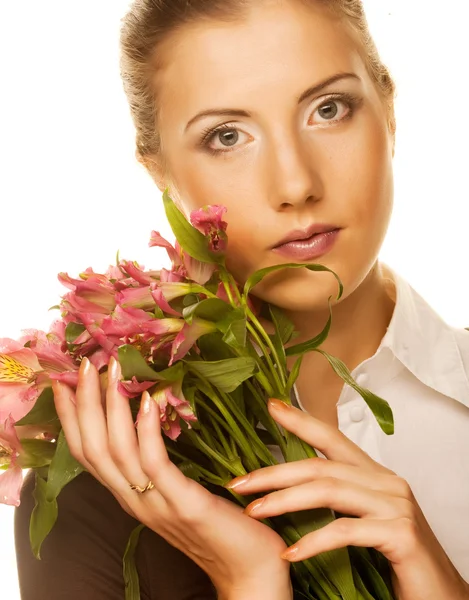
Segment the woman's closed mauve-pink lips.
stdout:
[[[310,233],[309,237],[305,237],[309,231],[313,233]],[[290,238],[289,241],[274,246],[272,250],[290,260],[303,262],[313,260],[327,254],[332,249],[340,231],[339,227],[314,225],[308,231],[292,232],[287,238],[284,238]],[[301,237],[298,237],[298,233]]]

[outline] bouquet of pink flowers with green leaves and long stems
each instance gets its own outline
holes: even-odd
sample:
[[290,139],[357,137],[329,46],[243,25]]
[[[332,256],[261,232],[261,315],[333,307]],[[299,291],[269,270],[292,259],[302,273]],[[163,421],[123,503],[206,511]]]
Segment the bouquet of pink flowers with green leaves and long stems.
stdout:
[[[233,477],[285,461],[317,456],[315,450],[270,416],[267,400],[291,403],[303,356],[319,352],[366,401],[385,434],[393,433],[388,403],[361,388],[346,366],[321,349],[332,319],[314,339],[294,344],[293,324],[275,306],[250,293],[280,269],[332,273],[318,264],[281,264],[252,274],[240,286],[225,264],[225,208],[206,206],[190,222],[163,194],[176,237],[175,247],[152,232],[150,246],[167,250],[171,269],[145,270],[120,260],[106,273],[91,268],[73,279],[58,308],[61,318],[48,333],[26,330],[18,341],[0,339],[0,502],[18,505],[22,469],[36,473],[31,546],[41,544],[57,519],[60,491],[83,470],[71,456],[54,406],[53,380],[72,387],[87,357],[106,387],[111,357],[121,365],[120,391],[136,418],[147,391],[159,407],[171,460],[187,476],[242,506],[243,497],[224,485]],[[269,331],[261,324],[269,322]],[[272,333],[273,332],[273,333]],[[287,358],[296,357],[293,367]],[[291,363],[290,363],[291,364]],[[313,509],[265,519],[288,545],[335,519]],[[132,534],[124,560],[126,599],[139,598],[133,552],[142,526]],[[372,548],[343,548],[292,564],[295,598],[393,600],[389,564]]]

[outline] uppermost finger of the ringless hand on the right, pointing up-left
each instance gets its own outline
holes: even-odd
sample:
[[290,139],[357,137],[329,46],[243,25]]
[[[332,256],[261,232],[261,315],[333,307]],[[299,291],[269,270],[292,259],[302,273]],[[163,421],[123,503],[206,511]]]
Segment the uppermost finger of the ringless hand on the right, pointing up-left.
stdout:
[[320,450],[327,458],[362,469],[391,472],[374,461],[359,446],[341,431],[308,413],[289,406],[281,400],[271,399],[268,403],[272,417],[285,429]]

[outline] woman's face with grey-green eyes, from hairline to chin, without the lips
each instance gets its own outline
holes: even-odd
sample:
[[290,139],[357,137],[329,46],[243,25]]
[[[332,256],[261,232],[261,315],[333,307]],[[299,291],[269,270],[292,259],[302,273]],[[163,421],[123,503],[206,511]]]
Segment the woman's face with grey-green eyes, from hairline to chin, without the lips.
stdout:
[[[346,298],[376,262],[393,196],[388,114],[352,34],[320,7],[268,1],[236,24],[186,27],[162,51],[160,131],[173,198],[186,215],[227,207],[227,263],[239,282],[275,264],[320,263],[339,275]],[[315,224],[340,229],[321,256],[274,250]],[[324,308],[336,292],[331,275],[303,269],[255,289],[299,311]]]

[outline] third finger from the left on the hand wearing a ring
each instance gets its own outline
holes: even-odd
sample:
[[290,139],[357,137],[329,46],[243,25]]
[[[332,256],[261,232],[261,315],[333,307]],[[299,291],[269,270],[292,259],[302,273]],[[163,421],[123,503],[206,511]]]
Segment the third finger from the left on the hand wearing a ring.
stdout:
[[106,392],[109,452],[115,465],[129,483],[145,487],[148,483],[148,476],[140,464],[137,432],[129,399],[123,396],[118,389],[120,375],[119,363],[111,358]]

